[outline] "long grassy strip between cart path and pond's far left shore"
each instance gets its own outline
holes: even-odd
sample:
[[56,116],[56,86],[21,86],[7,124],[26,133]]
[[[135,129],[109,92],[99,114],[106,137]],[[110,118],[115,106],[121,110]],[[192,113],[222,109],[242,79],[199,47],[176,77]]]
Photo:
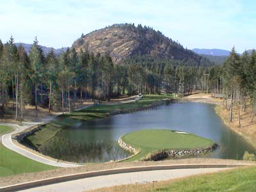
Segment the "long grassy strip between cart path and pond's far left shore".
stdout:
[[38,148],[47,141],[51,140],[61,129],[72,127],[79,122],[95,120],[97,118],[104,118],[114,111],[124,111],[132,109],[140,109],[151,106],[152,104],[164,99],[170,99],[172,96],[166,95],[145,95],[140,100],[124,104],[99,104],[89,108],[66,113],[58,116],[55,120],[47,125],[43,125],[38,131],[24,139],[27,145]]

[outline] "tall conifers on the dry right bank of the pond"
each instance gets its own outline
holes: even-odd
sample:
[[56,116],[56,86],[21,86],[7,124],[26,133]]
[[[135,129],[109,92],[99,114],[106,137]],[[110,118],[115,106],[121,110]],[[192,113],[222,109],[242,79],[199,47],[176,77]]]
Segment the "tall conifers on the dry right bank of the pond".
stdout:
[[238,54],[233,47],[223,65],[214,66],[209,71],[207,81],[212,93],[225,96],[225,106],[229,111],[229,121],[234,120],[234,107],[241,127],[241,113],[250,108],[251,122],[255,116],[256,99],[256,52],[244,51]]

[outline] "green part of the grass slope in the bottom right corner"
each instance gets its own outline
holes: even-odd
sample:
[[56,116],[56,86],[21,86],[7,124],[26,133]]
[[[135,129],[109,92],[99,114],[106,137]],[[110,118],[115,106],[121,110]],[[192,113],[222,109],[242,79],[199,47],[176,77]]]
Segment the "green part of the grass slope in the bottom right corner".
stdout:
[[[138,189],[138,191],[140,191]],[[256,191],[256,167],[239,168],[228,172],[214,173],[189,177],[179,182],[173,182],[151,191],[167,192],[255,192]]]

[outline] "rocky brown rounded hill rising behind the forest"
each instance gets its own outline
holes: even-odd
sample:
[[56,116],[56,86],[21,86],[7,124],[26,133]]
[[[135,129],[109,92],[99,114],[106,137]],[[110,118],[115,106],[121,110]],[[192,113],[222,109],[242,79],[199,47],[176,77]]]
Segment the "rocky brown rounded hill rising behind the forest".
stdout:
[[87,50],[90,52],[109,54],[114,63],[122,63],[127,58],[134,56],[150,56],[160,59],[173,59],[188,61],[197,65],[211,62],[184,49],[182,45],[164,36],[160,31],[134,24],[115,24],[82,35],[72,45],[76,51]]

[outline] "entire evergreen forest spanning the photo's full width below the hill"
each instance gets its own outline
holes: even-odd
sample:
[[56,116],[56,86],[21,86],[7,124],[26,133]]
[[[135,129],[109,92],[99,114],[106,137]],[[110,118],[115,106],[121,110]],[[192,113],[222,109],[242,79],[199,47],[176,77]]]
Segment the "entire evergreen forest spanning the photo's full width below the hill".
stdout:
[[109,54],[68,48],[60,56],[54,50],[44,54],[35,38],[29,54],[14,40],[0,41],[0,113],[15,110],[22,120],[25,106],[38,106],[53,111],[71,111],[87,99],[95,102],[122,95],[166,94],[184,96],[196,90],[223,94],[232,121],[233,104],[242,110],[256,90],[256,53],[237,54],[232,49],[223,65],[198,64],[152,56],[132,56],[115,64]]

